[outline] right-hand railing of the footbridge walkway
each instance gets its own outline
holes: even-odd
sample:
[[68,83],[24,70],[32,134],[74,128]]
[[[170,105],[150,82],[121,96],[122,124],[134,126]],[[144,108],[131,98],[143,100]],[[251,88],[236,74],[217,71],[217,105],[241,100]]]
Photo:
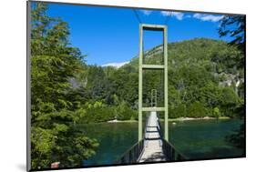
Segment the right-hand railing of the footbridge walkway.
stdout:
[[163,138],[162,133],[161,133],[161,126],[159,122],[159,117],[158,117],[158,129],[159,129],[159,134],[162,140],[162,148],[163,152],[167,158],[168,161],[176,161],[176,160],[185,160],[187,157],[183,156],[179,151],[171,145],[166,139]]

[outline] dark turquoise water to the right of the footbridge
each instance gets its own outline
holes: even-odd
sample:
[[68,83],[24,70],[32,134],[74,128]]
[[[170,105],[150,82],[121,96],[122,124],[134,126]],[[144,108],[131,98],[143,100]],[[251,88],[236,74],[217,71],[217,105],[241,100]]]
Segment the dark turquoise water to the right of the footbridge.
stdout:
[[189,159],[238,157],[243,150],[233,147],[225,137],[233,134],[242,123],[241,120],[177,122],[169,126],[169,140]]

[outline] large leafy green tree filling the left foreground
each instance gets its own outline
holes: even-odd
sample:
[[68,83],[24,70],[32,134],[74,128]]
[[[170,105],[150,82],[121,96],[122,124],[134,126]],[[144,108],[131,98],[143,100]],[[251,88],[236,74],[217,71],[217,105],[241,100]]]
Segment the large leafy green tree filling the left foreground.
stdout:
[[[95,154],[97,142],[74,125],[80,119],[70,100],[70,78],[84,69],[83,56],[68,46],[67,23],[46,15],[46,5],[34,4],[31,33],[31,157],[32,168],[80,166]],[[75,70],[74,70],[75,68]],[[75,97],[74,97],[75,98]]]

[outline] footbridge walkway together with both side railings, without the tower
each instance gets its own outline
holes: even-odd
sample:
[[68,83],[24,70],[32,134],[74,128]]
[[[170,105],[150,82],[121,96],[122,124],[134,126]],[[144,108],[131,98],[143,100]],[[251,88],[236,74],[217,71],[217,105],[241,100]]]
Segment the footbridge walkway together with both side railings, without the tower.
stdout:
[[186,157],[162,137],[159,116],[156,111],[151,111],[145,123],[143,139],[130,147],[127,152],[118,158],[115,164],[138,164],[185,159]]

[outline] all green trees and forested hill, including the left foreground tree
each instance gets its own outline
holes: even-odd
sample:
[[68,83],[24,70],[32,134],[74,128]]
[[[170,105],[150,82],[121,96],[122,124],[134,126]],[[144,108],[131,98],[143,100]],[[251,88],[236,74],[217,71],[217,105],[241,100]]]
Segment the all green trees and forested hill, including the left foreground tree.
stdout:
[[[32,168],[49,168],[53,162],[80,167],[98,143],[77,130],[77,124],[138,119],[138,56],[119,68],[87,65],[87,55],[70,45],[68,24],[46,10],[36,3],[31,12]],[[231,33],[225,25],[242,21],[243,16],[224,17],[220,36]],[[240,29],[230,43],[208,38],[169,43],[169,118],[244,116]],[[145,51],[145,63],[161,63],[162,52],[161,45]],[[158,89],[161,106],[162,74],[143,75],[144,106],[150,106],[151,89]]]

